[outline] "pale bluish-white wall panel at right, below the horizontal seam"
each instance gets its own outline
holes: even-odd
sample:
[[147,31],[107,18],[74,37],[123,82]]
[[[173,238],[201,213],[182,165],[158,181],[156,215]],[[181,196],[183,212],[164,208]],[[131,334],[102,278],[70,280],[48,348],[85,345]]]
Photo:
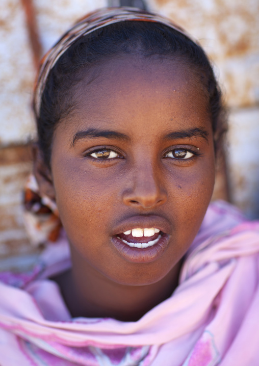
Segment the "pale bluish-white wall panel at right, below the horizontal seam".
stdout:
[[249,218],[259,218],[259,108],[230,114],[228,161],[231,200]]

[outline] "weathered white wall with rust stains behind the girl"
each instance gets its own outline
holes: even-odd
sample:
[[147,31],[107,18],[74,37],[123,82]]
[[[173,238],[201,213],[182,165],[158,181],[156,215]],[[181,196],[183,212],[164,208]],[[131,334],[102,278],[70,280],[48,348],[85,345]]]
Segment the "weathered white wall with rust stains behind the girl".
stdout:
[[[21,187],[31,167],[26,143],[35,136],[30,107],[34,57],[21,4],[20,0],[2,0],[0,12],[2,257],[35,251],[23,229],[21,207]],[[107,4],[108,0],[34,0],[43,51],[76,18]],[[259,217],[259,2],[149,0],[147,5],[186,28],[213,60],[230,108],[227,155],[230,197],[250,217]],[[215,196],[227,196],[222,173],[218,174]]]

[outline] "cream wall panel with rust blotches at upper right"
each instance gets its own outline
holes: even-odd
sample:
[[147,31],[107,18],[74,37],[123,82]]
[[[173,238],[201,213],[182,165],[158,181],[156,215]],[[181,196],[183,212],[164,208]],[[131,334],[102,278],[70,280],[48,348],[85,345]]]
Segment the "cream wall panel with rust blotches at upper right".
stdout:
[[150,0],[150,5],[199,40],[217,65],[230,107],[258,103],[258,1]]

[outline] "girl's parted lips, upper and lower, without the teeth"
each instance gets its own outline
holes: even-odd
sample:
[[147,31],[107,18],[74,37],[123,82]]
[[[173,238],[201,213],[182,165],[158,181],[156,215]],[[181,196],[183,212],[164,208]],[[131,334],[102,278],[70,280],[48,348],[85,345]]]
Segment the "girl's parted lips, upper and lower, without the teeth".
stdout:
[[[156,227],[160,231],[163,232],[162,237],[158,241],[158,243],[154,244],[151,247],[147,248],[135,248],[130,247],[127,244],[123,243],[120,239],[116,237],[117,234],[132,230],[134,228],[151,228]],[[168,223],[166,219],[161,216],[149,215],[149,216],[134,216],[123,220],[119,226],[117,226],[113,232],[112,236],[112,244],[119,251],[119,253],[126,259],[128,262],[133,263],[150,263],[157,260],[160,256],[163,255],[166,250],[171,234],[171,225]]]

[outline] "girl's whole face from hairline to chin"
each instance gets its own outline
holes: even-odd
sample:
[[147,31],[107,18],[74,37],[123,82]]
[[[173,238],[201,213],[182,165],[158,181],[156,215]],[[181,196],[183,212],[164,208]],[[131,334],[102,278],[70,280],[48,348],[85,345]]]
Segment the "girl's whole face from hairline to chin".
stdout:
[[213,192],[204,88],[185,63],[126,56],[92,67],[73,99],[51,155],[73,266],[157,282],[186,253]]

